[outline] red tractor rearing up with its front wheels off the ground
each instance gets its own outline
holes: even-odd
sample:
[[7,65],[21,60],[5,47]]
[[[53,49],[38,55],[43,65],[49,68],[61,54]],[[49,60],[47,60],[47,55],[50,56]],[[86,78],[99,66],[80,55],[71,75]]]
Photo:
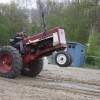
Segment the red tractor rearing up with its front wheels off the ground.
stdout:
[[[42,17],[45,27],[44,15]],[[58,66],[67,67],[72,63],[71,54],[63,51],[67,44],[65,30],[62,27],[51,30],[45,28],[44,32],[25,38],[23,43],[25,46],[23,54],[14,46],[0,48],[0,76],[15,78],[21,73],[35,77],[43,69],[42,57],[52,55],[54,51],[58,51],[55,57]]]

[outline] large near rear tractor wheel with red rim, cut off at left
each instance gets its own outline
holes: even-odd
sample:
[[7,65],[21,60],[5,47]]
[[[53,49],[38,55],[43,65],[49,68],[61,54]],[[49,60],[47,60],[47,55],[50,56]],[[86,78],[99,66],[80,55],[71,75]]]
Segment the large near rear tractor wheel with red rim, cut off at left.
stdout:
[[0,49],[0,76],[15,78],[21,72],[22,58],[14,47],[4,46]]

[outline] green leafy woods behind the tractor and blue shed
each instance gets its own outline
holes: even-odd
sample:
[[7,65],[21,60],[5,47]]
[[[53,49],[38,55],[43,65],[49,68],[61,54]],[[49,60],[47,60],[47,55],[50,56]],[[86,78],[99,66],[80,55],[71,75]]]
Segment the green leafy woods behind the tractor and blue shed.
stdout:
[[[88,55],[100,56],[100,0],[44,0],[48,8],[47,29],[62,26],[67,41],[86,45]],[[22,5],[22,3],[24,3]],[[32,0],[14,0],[0,4],[0,46],[9,44],[9,39],[20,29],[31,36],[43,31],[38,9],[29,7]],[[97,50],[98,49],[98,50]],[[96,52],[95,52],[96,51]]]

